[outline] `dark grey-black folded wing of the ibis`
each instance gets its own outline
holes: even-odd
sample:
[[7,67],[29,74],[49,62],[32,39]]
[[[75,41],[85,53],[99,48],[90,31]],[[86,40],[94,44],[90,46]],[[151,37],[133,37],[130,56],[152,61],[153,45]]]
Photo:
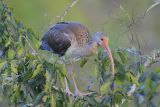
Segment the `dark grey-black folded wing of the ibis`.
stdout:
[[62,31],[62,28],[58,29],[57,25],[50,28],[42,37],[41,47],[48,51],[52,50],[59,56],[63,56],[70,46],[70,37],[66,36],[66,33]]

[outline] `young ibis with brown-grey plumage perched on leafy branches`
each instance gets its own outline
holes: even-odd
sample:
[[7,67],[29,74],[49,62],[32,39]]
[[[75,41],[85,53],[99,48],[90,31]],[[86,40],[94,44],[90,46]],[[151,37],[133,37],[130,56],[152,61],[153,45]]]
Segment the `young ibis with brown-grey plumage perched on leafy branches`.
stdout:
[[83,96],[79,92],[75,79],[72,76],[72,63],[79,58],[97,53],[98,46],[102,46],[108,53],[112,63],[112,75],[114,76],[114,61],[109,48],[109,38],[102,32],[97,32],[89,38],[88,29],[78,22],[58,22],[51,27],[42,37],[41,48],[58,54],[59,57],[69,59],[68,72],[73,80],[74,94],[69,90],[65,78],[65,92],[70,95]]

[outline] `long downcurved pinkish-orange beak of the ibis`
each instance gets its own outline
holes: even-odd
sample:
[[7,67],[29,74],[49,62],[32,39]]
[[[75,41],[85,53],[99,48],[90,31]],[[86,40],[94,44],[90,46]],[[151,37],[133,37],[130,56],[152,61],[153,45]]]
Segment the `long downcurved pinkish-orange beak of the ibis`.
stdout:
[[111,53],[111,50],[110,50],[109,45],[108,45],[108,39],[104,39],[104,41],[102,42],[101,45],[103,46],[105,52],[107,52],[107,54],[109,56],[109,59],[110,59],[111,64],[112,64],[112,76],[114,77],[114,60],[113,60],[112,53]]

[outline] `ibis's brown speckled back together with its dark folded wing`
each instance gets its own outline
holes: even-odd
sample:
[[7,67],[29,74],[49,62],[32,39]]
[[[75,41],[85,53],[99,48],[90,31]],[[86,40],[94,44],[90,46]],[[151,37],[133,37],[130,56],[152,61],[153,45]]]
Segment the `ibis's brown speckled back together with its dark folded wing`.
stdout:
[[89,41],[88,29],[77,22],[59,22],[42,37],[42,49],[63,56],[75,42],[83,47]]

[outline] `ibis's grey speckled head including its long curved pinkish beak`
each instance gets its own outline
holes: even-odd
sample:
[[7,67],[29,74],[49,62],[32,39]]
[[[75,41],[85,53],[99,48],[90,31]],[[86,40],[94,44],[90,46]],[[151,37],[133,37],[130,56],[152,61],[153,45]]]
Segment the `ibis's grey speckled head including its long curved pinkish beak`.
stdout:
[[99,46],[102,46],[104,48],[105,52],[107,52],[107,54],[110,58],[110,61],[112,63],[112,75],[114,77],[114,60],[112,57],[111,50],[109,48],[108,36],[103,32],[96,32],[95,35],[93,36],[93,41],[96,42]]

